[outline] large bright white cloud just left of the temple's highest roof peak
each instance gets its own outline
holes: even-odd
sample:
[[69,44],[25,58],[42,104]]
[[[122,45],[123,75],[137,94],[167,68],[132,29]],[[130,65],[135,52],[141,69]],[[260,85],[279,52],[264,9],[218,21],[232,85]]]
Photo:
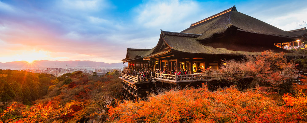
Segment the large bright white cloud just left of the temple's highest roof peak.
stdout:
[[[195,1],[154,1],[140,5],[136,21],[147,28],[181,29],[192,23],[191,16],[202,9]],[[175,26],[180,24],[181,27]],[[177,28],[176,28],[177,27]]]

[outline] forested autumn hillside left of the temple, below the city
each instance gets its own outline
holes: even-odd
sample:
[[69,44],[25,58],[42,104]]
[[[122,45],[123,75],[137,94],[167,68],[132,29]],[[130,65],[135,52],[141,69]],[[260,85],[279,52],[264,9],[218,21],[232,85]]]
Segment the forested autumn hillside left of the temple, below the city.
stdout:
[[121,100],[119,71],[95,77],[81,71],[61,77],[0,70],[0,122],[105,121],[108,105]]

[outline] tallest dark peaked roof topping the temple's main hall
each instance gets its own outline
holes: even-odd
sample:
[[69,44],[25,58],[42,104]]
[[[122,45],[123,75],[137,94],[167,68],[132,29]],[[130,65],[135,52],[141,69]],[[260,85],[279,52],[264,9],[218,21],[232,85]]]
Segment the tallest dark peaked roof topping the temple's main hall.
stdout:
[[229,28],[292,38],[299,37],[297,34],[278,29],[256,18],[240,13],[236,10],[235,6],[193,23],[189,28],[181,31],[181,33],[202,34],[196,40],[205,40],[211,38],[213,34],[223,33]]

